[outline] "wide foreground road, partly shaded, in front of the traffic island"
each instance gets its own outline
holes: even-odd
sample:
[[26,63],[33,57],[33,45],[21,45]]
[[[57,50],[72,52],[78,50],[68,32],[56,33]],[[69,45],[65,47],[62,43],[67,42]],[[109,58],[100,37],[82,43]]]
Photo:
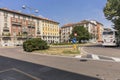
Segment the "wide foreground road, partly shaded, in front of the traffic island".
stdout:
[[119,80],[119,63],[80,60],[0,48],[0,80]]

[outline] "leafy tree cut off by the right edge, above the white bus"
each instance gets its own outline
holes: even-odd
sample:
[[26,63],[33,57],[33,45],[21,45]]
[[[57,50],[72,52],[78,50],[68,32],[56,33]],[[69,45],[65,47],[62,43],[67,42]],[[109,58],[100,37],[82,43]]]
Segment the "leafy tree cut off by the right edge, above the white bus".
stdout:
[[105,17],[114,23],[114,28],[120,35],[120,0],[107,0],[103,12]]

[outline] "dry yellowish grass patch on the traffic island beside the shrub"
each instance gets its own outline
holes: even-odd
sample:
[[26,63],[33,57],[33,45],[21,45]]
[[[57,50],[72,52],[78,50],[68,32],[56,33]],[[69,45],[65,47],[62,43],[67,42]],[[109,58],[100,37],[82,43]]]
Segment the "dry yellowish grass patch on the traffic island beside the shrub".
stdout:
[[80,51],[78,49],[74,50],[73,48],[49,48],[48,50],[38,50],[35,52],[39,54],[71,56],[71,57],[80,54]]

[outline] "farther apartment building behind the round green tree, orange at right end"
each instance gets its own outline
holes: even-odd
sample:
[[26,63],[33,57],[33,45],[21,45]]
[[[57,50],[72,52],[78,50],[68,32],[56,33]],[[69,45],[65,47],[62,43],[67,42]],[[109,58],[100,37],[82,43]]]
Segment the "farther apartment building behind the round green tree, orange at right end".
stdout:
[[90,40],[91,42],[96,42],[101,40],[101,34],[102,34],[102,24],[95,21],[88,21],[88,20],[83,20],[78,23],[70,23],[70,24],[65,24],[64,26],[61,27],[61,42],[69,42],[69,35],[72,33],[72,29],[75,26],[84,26],[88,32],[92,35],[92,39]]

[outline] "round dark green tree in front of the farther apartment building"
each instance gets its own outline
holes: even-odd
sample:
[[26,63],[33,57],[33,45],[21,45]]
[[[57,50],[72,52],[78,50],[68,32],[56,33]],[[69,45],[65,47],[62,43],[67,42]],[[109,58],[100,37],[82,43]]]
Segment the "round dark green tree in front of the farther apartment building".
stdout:
[[[74,34],[77,34],[75,36]],[[81,40],[89,40],[90,39],[90,34],[86,28],[83,26],[75,26],[72,30],[72,34],[70,35],[70,39],[76,38],[79,43],[81,43]]]

